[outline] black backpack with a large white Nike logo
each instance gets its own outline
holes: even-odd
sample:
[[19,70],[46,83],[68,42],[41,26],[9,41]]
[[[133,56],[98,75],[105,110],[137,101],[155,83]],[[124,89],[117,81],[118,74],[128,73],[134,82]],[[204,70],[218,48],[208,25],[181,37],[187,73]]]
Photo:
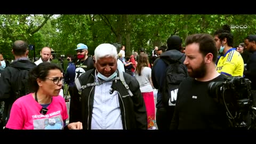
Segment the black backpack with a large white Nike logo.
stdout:
[[183,65],[185,57],[185,54],[182,54],[177,60],[170,57],[161,57],[161,55],[159,57],[167,65],[162,87],[162,101],[165,106],[175,106],[178,87],[183,79],[188,77],[187,67]]

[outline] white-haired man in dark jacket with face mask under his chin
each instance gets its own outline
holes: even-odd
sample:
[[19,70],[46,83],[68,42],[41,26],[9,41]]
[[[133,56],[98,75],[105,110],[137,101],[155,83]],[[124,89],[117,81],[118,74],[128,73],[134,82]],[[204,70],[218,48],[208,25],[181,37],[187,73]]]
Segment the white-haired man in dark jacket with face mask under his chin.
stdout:
[[[117,69],[116,47],[107,43],[97,46],[94,65],[94,69],[75,80],[73,97],[76,98],[71,103],[77,107],[69,111],[69,122],[79,119],[84,130],[147,130],[147,112],[139,82]],[[130,91],[121,81],[121,74]]]

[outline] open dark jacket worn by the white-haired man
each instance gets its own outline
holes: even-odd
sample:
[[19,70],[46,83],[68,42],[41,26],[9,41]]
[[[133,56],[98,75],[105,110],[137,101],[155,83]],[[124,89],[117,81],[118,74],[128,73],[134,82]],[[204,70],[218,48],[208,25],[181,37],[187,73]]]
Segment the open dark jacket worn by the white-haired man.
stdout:
[[[79,78],[82,85],[95,82],[95,69],[83,73]],[[111,88],[118,92],[119,106],[121,109],[124,130],[147,130],[147,112],[145,102],[141,95],[140,85],[137,79],[129,74],[123,73],[127,85],[129,85],[133,96],[129,95],[120,80],[113,81]],[[119,73],[118,73],[119,76]],[[74,97],[70,102],[69,122],[82,122],[84,130],[91,129],[92,109],[95,86],[87,87],[82,91],[81,102],[76,86],[74,86]],[[128,96],[127,96],[128,95]]]

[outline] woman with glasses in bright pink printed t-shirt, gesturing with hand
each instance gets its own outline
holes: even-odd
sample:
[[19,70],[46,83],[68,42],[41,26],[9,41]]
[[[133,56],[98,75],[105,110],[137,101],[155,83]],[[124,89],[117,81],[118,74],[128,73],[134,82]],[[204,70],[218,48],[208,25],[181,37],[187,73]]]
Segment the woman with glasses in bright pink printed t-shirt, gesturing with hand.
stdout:
[[[59,66],[42,62],[29,74],[29,93],[14,101],[5,126],[13,130],[62,130],[68,118],[65,99],[59,93],[63,74]],[[70,123],[68,129],[82,129],[82,123]]]

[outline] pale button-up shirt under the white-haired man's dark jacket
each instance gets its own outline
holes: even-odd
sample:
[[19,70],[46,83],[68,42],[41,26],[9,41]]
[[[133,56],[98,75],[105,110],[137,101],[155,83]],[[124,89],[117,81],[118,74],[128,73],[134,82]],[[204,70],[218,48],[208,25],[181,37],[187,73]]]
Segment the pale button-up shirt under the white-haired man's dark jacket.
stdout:
[[95,86],[92,130],[123,130],[118,93],[114,91],[110,94],[112,82]]

